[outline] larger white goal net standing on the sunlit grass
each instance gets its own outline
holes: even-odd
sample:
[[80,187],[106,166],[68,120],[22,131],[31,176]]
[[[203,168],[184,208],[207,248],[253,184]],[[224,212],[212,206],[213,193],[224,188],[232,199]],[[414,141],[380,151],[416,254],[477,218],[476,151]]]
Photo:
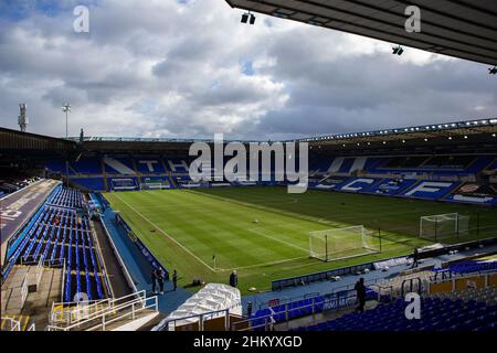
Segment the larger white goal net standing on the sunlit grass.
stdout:
[[379,238],[362,225],[309,233],[309,256],[324,261],[380,252]]

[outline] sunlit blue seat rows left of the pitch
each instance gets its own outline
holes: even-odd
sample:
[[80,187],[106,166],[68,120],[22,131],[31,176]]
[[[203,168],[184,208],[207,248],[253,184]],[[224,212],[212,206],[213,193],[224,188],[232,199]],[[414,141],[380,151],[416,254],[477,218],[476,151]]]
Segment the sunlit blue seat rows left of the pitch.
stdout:
[[76,293],[86,293],[88,300],[105,298],[89,218],[80,208],[83,205],[83,194],[57,186],[24,229],[25,236],[9,258],[10,267],[40,261],[45,266],[65,263],[63,295],[66,302],[73,301]]

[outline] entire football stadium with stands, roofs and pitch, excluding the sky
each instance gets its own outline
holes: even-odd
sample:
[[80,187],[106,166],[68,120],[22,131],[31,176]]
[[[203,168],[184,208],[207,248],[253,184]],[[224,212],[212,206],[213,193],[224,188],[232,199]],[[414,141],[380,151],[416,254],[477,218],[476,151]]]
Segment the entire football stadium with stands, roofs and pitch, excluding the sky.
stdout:
[[[496,97],[489,1],[412,1],[417,35],[405,1],[222,2],[239,26],[469,62]],[[98,119],[61,137],[19,107],[20,130],[0,128],[2,331],[497,331],[495,111],[220,139],[98,135]]]

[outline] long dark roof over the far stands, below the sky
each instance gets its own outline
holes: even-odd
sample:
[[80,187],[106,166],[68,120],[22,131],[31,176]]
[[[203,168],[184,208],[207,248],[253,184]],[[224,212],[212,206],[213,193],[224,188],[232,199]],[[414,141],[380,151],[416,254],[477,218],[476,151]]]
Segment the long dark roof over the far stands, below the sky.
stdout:
[[[2,136],[3,133],[3,136]],[[39,141],[41,139],[41,141]],[[77,138],[71,141],[43,137],[34,133],[20,132],[0,128],[0,157],[4,157],[9,151],[31,151],[33,158],[39,154],[61,153],[63,151],[78,153],[81,151],[92,153],[127,153],[130,150],[136,152],[160,153],[161,151],[184,151],[192,142],[203,141],[212,143],[209,139],[168,139],[168,138],[112,138],[112,137],[85,137],[84,143],[76,143]],[[233,140],[225,140],[232,142]],[[391,150],[403,148],[440,147],[445,149],[479,149],[497,150],[497,118],[467,120],[458,122],[431,124],[404,128],[393,128],[376,131],[336,133],[318,137],[308,137],[282,142],[308,142],[310,148],[329,150]],[[52,142],[52,143],[49,143]],[[66,146],[61,146],[65,142]],[[242,143],[262,142],[240,141]],[[40,145],[42,143],[42,145]],[[54,145],[55,143],[55,145]],[[64,145],[64,143],[63,143]],[[7,150],[6,150],[7,148]],[[36,153],[32,153],[32,151]],[[2,153],[3,152],[3,153]]]

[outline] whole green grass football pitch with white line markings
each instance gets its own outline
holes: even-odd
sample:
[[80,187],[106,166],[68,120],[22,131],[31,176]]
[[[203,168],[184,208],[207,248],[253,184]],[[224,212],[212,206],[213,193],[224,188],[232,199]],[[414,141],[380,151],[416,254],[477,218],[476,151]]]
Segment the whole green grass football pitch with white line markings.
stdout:
[[[422,215],[469,215],[469,235],[451,242],[497,233],[495,208],[364,194],[212,188],[107,193],[105,197],[162,265],[178,270],[180,286],[197,278],[228,282],[230,271],[236,269],[244,293],[251,287],[269,289],[274,279],[409,254],[414,246],[431,244],[419,237]],[[309,232],[355,225],[363,225],[377,246],[381,229],[382,252],[330,263],[309,258]],[[348,240],[334,244],[347,248]]]

